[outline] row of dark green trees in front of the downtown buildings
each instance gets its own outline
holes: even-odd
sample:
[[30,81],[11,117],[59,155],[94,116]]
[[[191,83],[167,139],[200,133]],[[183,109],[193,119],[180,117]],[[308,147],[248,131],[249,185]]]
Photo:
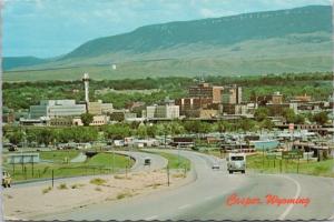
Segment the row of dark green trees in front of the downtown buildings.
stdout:
[[171,121],[166,123],[116,123],[102,127],[37,128],[4,127],[3,135],[13,144],[57,144],[68,142],[92,142],[116,140],[126,137],[155,138],[157,135],[179,135],[185,133],[209,133],[227,131],[256,131],[271,129],[272,121],[242,119],[234,122],[218,121]]

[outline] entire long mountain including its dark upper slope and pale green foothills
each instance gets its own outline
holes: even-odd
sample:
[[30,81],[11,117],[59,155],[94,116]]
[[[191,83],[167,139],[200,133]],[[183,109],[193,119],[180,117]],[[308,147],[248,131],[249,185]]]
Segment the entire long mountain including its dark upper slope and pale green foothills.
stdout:
[[52,62],[11,67],[7,80],[20,80],[24,73],[33,77],[38,71],[31,70],[46,69],[58,77],[67,69],[71,78],[90,70],[101,79],[328,71],[331,38],[330,6],[176,21],[98,38]]

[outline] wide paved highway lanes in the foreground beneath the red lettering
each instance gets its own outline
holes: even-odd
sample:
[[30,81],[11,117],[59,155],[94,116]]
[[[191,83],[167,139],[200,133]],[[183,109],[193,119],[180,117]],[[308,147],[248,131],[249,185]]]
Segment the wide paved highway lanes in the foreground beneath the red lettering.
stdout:
[[[169,151],[175,152],[175,151]],[[177,153],[177,152],[175,152]],[[89,205],[42,218],[45,220],[296,220],[328,219],[334,215],[334,180],[307,175],[227,174],[210,169],[217,160],[200,153],[181,151],[191,160],[197,180],[175,190],[165,190],[119,202]],[[302,205],[232,205],[227,196],[310,198]]]

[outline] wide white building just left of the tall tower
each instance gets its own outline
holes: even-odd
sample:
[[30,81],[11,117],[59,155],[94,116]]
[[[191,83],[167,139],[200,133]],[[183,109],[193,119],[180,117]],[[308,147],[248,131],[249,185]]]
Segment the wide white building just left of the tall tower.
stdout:
[[40,104],[30,107],[30,118],[57,118],[80,115],[86,112],[86,104],[76,104],[75,100],[41,100]]

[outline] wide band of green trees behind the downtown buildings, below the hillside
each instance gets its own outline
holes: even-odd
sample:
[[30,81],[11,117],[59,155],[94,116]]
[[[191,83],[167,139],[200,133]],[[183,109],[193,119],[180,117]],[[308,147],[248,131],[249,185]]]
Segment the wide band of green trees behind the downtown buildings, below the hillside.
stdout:
[[[199,79],[199,78],[197,78]],[[207,77],[205,81],[225,85],[235,83],[243,87],[243,99],[248,100],[252,94],[264,95],[281,91],[287,97],[308,93],[315,99],[327,99],[332,93],[332,73],[286,73],[266,77]],[[90,100],[101,99],[112,102],[116,108],[124,108],[127,102],[144,101],[147,104],[158,102],[165,97],[170,99],[186,94],[189,85],[196,84],[196,78],[146,78],[125,80],[102,80],[90,82]],[[159,89],[153,94],[145,93],[107,93],[95,94],[95,90],[112,88],[116,90],[149,90]],[[37,82],[4,82],[3,105],[19,110],[29,109],[43,99],[75,99],[84,101],[81,81],[37,81]]]

